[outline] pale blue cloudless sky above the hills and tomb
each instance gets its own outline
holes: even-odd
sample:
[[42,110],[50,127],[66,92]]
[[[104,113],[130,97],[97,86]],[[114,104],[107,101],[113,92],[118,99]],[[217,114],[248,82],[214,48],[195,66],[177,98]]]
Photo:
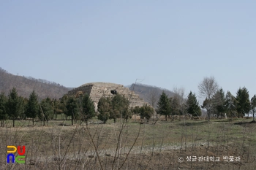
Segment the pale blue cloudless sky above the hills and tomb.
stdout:
[[197,93],[214,76],[256,93],[256,1],[0,1],[0,66],[78,87],[143,84]]

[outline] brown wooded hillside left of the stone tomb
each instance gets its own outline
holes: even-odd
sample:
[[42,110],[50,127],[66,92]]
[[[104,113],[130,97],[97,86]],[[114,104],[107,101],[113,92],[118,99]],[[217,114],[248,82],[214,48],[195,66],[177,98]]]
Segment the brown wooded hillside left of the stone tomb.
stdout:
[[61,98],[70,90],[70,88],[66,88],[56,82],[35,79],[33,77],[16,76],[0,67],[0,92],[8,95],[12,88],[16,88],[20,96],[27,98],[33,90],[38,94],[39,98]]

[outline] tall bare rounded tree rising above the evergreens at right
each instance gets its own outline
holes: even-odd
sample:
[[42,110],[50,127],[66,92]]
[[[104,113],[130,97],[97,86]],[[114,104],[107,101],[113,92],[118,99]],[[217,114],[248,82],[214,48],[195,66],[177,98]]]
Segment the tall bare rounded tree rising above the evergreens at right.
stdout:
[[208,101],[206,104],[206,110],[208,115],[208,121],[210,120],[210,107],[211,107],[211,98],[214,93],[218,90],[218,83],[214,77],[204,77],[203,81],[199,83],[198,89],[201,97],[205,97]]

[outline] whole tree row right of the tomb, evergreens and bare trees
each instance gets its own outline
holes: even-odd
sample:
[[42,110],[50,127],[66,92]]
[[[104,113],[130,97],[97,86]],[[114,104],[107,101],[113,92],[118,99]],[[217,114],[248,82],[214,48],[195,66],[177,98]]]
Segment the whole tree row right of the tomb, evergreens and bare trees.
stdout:
[[205,97],[203,105],[200,106],[195,93],[190,91],[184,99],[184,90],[174,89],[175,95],[168,98],[165,92],[159,98],[157,103],[157,113],[167,116],[185,115],[200,116],[201,108],[206,109],[208,120],[211,115],[215,117],[244,117],[251,112],[255,120],[256,96],[249,98],[249,91],[246,88],[239,88],[236,97],[230,91],[225,94],[222,88],[219,88],[214,77],[205,77],[198,85],[200,96]]

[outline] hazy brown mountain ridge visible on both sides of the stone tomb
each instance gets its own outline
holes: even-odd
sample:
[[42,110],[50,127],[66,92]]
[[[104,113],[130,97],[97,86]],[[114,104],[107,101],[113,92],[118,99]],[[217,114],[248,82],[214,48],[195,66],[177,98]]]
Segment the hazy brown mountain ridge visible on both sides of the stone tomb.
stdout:
[[[140,83],[125,85],[129,90],[134,90],[140,98],[144,98],[148,104],[151,104],[151,94],[154,92],[157,101],[162,91],[172,97],[174,93],[165,88],[159,88],[153,85],[143,85]],[[12,88],[18,90],[20,96],[29,98],[30,93],[35,90],[40,99],[42,98],[61,98],[73,88],[66,88],[63,85],[59,85],[56,82],[50,82],[48,80],[35,79],[34,77],[25,77],[13,75],[0,67],[0,92],[4,92],[8,95]]]

